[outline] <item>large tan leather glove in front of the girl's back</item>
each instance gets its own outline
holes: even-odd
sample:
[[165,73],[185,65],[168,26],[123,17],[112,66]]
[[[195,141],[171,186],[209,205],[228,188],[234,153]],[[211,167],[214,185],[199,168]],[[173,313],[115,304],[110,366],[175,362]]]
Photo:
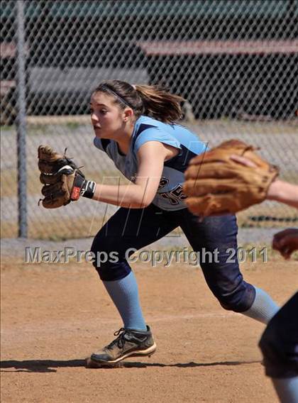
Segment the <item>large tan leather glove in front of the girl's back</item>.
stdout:
[[[199,216],[235,214],[265,200],[278,169],[260,158],[256,149],[241,140],[229,140],[193,158],[183,186],[189,210]],[[241,157],[250,166],[236,161]]]

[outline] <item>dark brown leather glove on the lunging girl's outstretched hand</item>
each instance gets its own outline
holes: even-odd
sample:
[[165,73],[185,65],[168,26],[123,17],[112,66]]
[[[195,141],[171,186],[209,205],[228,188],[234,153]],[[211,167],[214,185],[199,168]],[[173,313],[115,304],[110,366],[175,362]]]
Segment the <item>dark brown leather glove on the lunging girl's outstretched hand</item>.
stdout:
[[65,206],[81,195],[90,199],[94,195],[95,182],[85,180],[75,162],[56,153],[50,145],[38,147],[38,169],[40,182],[44,184],[41,193],[45,209]]

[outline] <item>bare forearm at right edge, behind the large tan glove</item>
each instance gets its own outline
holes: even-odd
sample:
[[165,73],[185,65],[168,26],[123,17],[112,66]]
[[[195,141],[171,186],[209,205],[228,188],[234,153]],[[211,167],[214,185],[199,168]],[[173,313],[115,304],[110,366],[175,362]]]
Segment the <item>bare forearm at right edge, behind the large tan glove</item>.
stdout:
[[267,199],[280,201],[298,209],[298,186],[282,180],[275,180],[270,185]]

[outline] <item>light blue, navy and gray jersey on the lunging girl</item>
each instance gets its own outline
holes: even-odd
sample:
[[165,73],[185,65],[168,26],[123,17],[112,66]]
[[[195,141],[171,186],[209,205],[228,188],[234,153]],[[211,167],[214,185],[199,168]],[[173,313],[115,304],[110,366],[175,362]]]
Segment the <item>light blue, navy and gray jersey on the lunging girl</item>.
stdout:
[[134,182],[138,172],[138,149],[147,141],[160,141],[180,150],[175,157],[164,163],[153,204],[164,210],[185,209],[185,196],[182,193],[184,171],[187,169],[189,160],[206,150],[206,144],[199,140],[197,135],[184,126],[162,123],[148,116],[140,116],[136,121],[127,155],[119,152],[114,140],[96,137],[94,145],[109,155],[118,170],[128,180]]

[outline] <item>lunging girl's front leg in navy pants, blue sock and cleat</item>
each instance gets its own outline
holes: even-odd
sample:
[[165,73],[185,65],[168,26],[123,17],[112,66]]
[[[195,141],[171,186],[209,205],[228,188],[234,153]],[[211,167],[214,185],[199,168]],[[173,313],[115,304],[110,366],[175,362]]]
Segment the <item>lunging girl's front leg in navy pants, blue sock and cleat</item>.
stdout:
[[[119,209],[97,233],[92,244],[94,266],[121,315],[123,328],[114,333],[114,341],[92,354],[93,363],[114,365],[128,356],[154,353],[156,345],[145,324],[136,277],[127,260],[133,251],[128,250],[158,241],[176,226],[151,205],[143,210]],[[106,256],[112,258],[106,260]]]

